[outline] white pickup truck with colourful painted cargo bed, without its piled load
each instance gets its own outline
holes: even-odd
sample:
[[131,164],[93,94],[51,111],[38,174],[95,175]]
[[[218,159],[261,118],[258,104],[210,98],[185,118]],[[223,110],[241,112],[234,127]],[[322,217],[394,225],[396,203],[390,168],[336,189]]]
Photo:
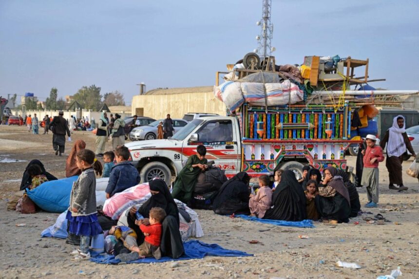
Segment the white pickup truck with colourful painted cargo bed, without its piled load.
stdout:
[[[159,176],[168,185],[201,144],[207,148],[208,161],[215,161],[215,166],[225,170],[227,177],[240,171],[258,177],[272,173],[277,166],[291,169],[301,177],[305,164],[321,171],[328,166],[346,169],[344,151],[360,142],[349,139],[347,106],[336,112],[326,106],[268,109],[266,113],[265,108],[245,104],[236,116],[193,119],[171,139],[131,142],[125,146],[130,149],[132,160],[138,162],[142,181]],[[340,120],[335,124],[325,122],[326,116]]]

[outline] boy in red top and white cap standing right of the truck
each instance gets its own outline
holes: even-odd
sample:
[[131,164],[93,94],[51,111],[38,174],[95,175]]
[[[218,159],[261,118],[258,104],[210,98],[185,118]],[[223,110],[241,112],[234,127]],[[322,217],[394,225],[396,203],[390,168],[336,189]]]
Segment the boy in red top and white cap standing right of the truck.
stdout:
[[364,155],[361,185],[366,186],[368,197],[365,207],[377,207],[378,204],[378,163],[384,161],[384,156],[381,147],[375,144],[376,141],[375,135],[367,135],[365,138],[367,148],[361,151]]

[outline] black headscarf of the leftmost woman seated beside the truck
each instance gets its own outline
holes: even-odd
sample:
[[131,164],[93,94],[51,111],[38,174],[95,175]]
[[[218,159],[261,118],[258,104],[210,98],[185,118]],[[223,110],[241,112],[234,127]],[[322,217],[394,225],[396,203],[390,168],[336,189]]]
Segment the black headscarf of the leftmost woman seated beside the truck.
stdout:
[[212,207],[218,208],[225,201],[229,201],[241,192],[248,191],[250,194],[250,190],[248,187],[248,183],[250,181],[250,177],[247,172],[241,171],[234,175],[232,178],[227,180],[218,191],[217,196],[212,203]]

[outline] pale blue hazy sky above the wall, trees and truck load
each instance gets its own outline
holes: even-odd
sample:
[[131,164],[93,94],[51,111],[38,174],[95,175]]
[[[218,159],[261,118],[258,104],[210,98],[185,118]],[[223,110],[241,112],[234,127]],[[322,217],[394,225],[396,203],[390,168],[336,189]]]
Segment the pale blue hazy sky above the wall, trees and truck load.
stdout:
[[[369,58],[370,85],[419,90],[419,1],[272,0],[276,64]],[[210,86],[257,47],[262,0],[0,0],[0,95],[95,84],[127,104],[154,88]],[[18,98],[19,99],[19,98]]]

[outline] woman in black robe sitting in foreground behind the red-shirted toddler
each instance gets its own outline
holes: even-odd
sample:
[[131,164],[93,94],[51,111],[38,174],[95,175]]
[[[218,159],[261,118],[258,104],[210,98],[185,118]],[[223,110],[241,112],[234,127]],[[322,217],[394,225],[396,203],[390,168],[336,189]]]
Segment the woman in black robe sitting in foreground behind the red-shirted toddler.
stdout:
[[140,227],[135,224],[135,213],[138,211],[144,217],[144,223],[147,224],[150,218],[150,209],[153,207],[161,207],[166,211],[166,218],[162,223],[162,236],[160,243],[160,250],[162,256],[169,256],[177,259],[183,255],[182,237],[179,232],[179,210],[166,183],[161,179],[154,179],[150,181],[150,191],[152,196],[147,200],[138,210],[134,207],[130,210],[128,225],[137,234],[137,243],[141,245],[144,242],[144,234]]

